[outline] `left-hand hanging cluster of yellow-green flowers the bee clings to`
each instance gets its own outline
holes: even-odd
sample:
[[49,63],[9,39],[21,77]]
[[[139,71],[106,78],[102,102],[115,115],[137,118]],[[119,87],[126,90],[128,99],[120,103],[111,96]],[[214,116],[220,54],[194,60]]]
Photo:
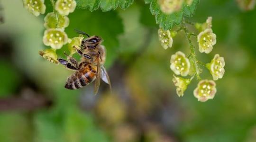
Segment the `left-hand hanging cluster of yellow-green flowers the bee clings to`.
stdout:
[[[68,43],[68,36],[64,32],[64,28],[69,25],[69,18],[67,15],[72,13],[76,7],[75,0],[51,0],[53,6],[53,12],[47,13],[44,18],[44,26],[46,30],[43,36],[43,43],[46,46],[50,46],[50,49],[46,49],[44,51],[39,51],[39,55],[41,55],[46,60],[58,63],[57,62],[57,54],[56,50],[60,49],[64,44]],[[23,0],[24,7],[28,9],[35,16],[39,14],[44,14],[46,11],[46,6],[44,4],[44,0]],[[82,38],[79,38],[78,42],[81,42]],[[76,39],[69,39],[69,44],[76,44]],[[71,54],[74,53],[74,49],[71,49]]]

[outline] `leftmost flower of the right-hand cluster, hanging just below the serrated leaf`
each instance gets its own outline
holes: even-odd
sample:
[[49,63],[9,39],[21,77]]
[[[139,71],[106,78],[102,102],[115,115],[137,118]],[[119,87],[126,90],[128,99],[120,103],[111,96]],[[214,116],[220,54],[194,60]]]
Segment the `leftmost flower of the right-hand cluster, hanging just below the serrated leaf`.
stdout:
[[162,28],[158,29],[159,41],[164,49],[171,48],[173,45],[173,38],[169,30],[164,31]]

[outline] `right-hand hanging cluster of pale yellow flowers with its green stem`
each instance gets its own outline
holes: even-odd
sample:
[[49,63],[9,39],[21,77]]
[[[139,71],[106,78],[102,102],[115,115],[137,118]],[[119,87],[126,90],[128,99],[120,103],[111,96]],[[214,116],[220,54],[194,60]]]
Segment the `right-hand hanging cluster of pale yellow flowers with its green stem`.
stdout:
[[[212,32],[212,18],[209,17],[205,23],[196,23],[194,26],[200,31],[197,36],[199,52],[200,53],[210,53],[213,49],[213,45],[216,44],[216,35]],[[195,35],[192,32],[188,31],[188,28],[183,26],[180,29],[184,30],[187,36],[187,39],[190,44],[191,53],[188,57],[178,51],[171,56],[171,65],[170,68],[174,72],[174,86],[176,87],[176,93],[179,97],[182,97],[184,91],[187,89],[188,85],[191,83],[192,79],[196,77],[198,80],[201,80],[200,74],[202,69],[199,65],[206,67],[210,74],[212,75],[213,80],[221,79],[224,75],[225,62],[224,58],[220,57],[219,54],[216,54],[210,63],[203,64],[202,62],[196,59],[195,47],[192,44],[191,35]],[[169,30],[163,31],[162,29],[158,30],[159,40],[161,45],[166,49],[171,47],[173,43],[172,34]],[[171,44],[170,44],[171,43]],[[180,76],[176,76],[180,75]],[[190,75],[191,78],[183,78],[187,75]],[[183,76],[183,77],[181,77]],[[194,97],[201,102],[205,102],[208,99],[212,99],[215,96],[217,91],[216,84],[213,80],[201,80],[199,81],[197,88],[194,89]]]

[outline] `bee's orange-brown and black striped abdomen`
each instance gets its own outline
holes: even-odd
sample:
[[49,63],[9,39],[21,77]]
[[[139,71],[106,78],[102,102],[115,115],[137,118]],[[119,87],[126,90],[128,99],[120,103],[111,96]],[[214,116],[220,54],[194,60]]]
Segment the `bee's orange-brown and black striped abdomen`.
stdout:
[[91,65],[85,66],[82,70],[76,71],[66,81],[66,89],[80,89],[91,83],[96,78],[96,71]]

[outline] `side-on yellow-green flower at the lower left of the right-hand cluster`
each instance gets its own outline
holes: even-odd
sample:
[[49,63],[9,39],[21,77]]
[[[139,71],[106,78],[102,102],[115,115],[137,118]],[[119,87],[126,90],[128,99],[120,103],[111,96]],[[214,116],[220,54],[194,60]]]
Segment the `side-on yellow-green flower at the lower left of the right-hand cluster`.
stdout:
[[187,89],[187,86],[190,83],[190,79],[184,79],[182,77],[177,77],[174,75],[173,82],[176,86],[176,93],[179,97],[182,97],[184,94],[184,91]]

